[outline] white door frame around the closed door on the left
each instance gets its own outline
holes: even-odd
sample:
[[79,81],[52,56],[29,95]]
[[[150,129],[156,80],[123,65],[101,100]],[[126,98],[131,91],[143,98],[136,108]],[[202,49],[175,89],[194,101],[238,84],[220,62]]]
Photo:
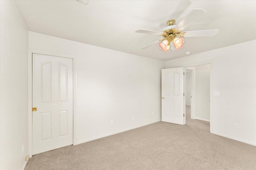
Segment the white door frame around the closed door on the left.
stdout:
[[28,49],[28,155],[32,157],[32,54],[64,57],[73,60],[73,145],[76,143],[76,56],[37,49]]

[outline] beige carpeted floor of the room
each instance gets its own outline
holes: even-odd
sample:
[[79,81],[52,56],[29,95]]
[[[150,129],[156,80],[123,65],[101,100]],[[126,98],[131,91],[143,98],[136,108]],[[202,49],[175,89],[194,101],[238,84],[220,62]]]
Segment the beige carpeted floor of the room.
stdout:
[[[187,106],[189,111],[189,106]],[[26,170],[256,170],[256,147],[210,133],[209,122],[157,122],[36,154]]]

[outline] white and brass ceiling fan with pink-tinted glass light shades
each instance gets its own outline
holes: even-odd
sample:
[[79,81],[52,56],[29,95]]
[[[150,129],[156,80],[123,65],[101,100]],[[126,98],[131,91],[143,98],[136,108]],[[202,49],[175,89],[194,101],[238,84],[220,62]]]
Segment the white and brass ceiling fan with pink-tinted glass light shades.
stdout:
[[202,15],[206,14],[206,11],[203,9],[194,9],[192,10],[178,25],[174,25],[175,20],[168,20],[166,23],[169,25],[165,27],[162,32],[159,31],[150,31],[146,29],[138,29],[136,33],[146,33],[146,34],[154,34],[163,36],[162,39],[159,39],[142,49],[146,49],[151,45],[159,43],[159,48],[164,52],[169,52],[170,47],[172,51],[180,50],[184,47],[184,39],[183,37],[212,37],[219,32],[219,29],[208,29],[208,30],[197,30],[197,31],[184,31],[183,29],[188,27],[192,22],[198,20]]

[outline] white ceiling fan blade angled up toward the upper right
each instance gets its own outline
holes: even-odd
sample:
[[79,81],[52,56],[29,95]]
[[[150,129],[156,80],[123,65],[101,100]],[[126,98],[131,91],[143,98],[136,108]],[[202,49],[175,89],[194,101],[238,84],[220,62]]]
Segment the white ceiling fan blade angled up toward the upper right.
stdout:
[[194,9],[192,10],[178,25],[176,25],[176,30],[183,30],[188,25],[198,20],[202,15],[206,14],[206,11],[203,9]]

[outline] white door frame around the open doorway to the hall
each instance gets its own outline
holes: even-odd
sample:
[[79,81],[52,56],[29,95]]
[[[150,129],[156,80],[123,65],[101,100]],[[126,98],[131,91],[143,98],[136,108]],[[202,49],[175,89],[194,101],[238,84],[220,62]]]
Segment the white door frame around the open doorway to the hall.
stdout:
[[[185,72],[184,79],[186,79],[186,68],[205,65],[205,64],[210,64],[210,133],[213,133],[213,61],[211,60],[211,61],[204,61],[200,63],[186,64],[186,65],[183,65],[182,67],[184,67],[184,72]],[[194,80],[195,80],[195,72],[194,72]],[[195,89],[195,81],[193,82],[193,84]],[[184,89],[186,90],[186,81],[184,81]],[[195,102],[193,104],[195,108]],[[186,93],[184,95],[184,114],[186,115]]]

